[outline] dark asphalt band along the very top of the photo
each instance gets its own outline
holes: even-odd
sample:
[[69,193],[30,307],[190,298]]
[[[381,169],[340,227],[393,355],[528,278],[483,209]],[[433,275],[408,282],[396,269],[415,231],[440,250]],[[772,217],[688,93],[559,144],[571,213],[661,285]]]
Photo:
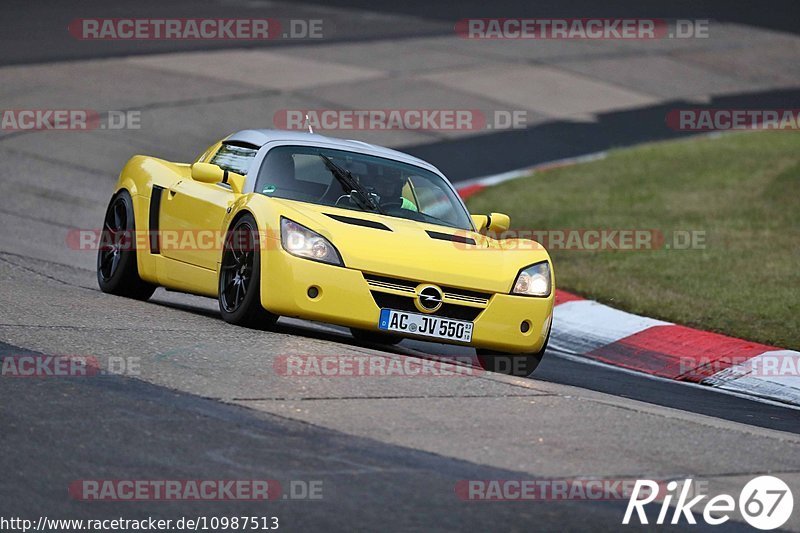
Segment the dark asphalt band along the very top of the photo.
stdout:
[[[364,16],[367,15],[365,19]],[[657,17],[673,19],[711,19],[749,24],[784,32],[797,32],[798,7],[792,0],[772,0],[769,7],[757,3],[723,0],[701,2],[631,2],[615,0],[597,4],[587,0],[520,2],[503,0],[486,5],[469,2],[389,2],[385,0],[334,0],[327,2],[276,2],[264,0],[139,0],[78,3],[57,0],[6,0],[3,3],[4,32],[0,64],[29,64],[43,61],[152,54],[176,50],[209,50],[240,47],[226,41],[136,41],[117,42],[102,52],[86,42],[76,41],[65,31],[78,18],[113,17],[264,17],[278,20],[319,19],[324,17],[330,32],[326,41],[348,42],[370,39],[402,39],[452,32],[455,22],[467,17]],[[254,46],[276,47],[289,44],[275,40]],[[311,43],[313,46],[314,43]]]

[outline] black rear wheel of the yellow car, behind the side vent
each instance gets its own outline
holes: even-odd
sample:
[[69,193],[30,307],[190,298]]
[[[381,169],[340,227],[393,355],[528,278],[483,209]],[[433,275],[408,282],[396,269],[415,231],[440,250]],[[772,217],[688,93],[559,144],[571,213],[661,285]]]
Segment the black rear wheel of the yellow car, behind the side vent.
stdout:
[[156,286],[139,277],[133,200],[126,190],[111,198],[97,250],[97,284],[117,296],[147,300]]

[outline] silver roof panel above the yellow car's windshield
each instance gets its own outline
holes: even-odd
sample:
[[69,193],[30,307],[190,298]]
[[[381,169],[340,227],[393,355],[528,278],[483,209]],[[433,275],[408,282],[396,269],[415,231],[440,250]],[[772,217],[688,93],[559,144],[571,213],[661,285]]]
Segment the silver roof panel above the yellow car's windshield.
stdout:
[[395,159],[397,161],[402,161],[404,163],[409,163],[419,167],[427,168],[433,170],[439,175],[443,175],[442,172],[435,166],[431,165],[427,161],[423,161],[422,159],[419,159],[412,155],[408,155],[403,152],[398,152],[397,150],[392,150],[391,148],[386,148],[384,146],[378,146],[376,144],[369,144],[362,141],[354,141],[349,139],[337,139],[335,137],[327,137],[325,135],[319,135],[317,133],[306,133],[302,131],[287,131],[287,130],[268,130],[268,129],[242,130],[234,133],[233,135],[225,139],[225,141],[226,142],[236,141],[236,142],[247,143],[253,146],[258,146],[259,148],[271,142],[279,142],[281,144],[285,144],[287,142],[300,142],[303,144],[319,144],[320,146],[325,146],[326,148],[349,150],[351,152],[358,152],[367,155],[374,155],[378,157]]

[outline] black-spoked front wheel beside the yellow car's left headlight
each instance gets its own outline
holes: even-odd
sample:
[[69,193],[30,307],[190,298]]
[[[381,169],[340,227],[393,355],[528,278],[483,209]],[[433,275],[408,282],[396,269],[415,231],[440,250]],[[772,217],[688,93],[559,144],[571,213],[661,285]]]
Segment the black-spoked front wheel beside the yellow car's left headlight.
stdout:
[[261,306],[261,250],[252,215],[239,218],[225,236],[219,271],[219,311],[225,322],[269,328],[278,316]]

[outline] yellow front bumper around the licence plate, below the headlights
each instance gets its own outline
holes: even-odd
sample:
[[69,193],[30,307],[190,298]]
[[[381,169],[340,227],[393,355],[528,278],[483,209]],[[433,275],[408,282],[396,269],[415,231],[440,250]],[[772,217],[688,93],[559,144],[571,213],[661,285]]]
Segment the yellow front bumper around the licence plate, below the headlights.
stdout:
[[[270,246],[269,251],[261,254],[261,304],[272,313],[377,331],[381,307],[376,303],[373,294],[383,293],[394,298],[408,297],[407,294],[403,295],[402,290],[376,287],[374,283],[368,283],[360,270],[295,257],[285,252],[280,243],[276,244],[277,246]],[[309,296],[311,287],[315,287],[317,291],[314,298]],[[447,295],[447,287],[442,288]],[[480,307],[473,302],[466,310],[467,315],[477,314],[473,320],[475,325],[469,346],[508,353],[540,351],[550,329],[553,293],[548,298],[489,294],[488,302]],[[411,300],[410,297],[408,299]],[[378,300],[384,301],[382,298]],[[454,307],[451,309],[455,310]],[[441,313],[434,315],[441,316]],[[524,333],[521,327],[523,322],[528,323],[528,329]],[[413,335],[406,336],[414,338]],[[452,344],[464,345],[458,342]]]

